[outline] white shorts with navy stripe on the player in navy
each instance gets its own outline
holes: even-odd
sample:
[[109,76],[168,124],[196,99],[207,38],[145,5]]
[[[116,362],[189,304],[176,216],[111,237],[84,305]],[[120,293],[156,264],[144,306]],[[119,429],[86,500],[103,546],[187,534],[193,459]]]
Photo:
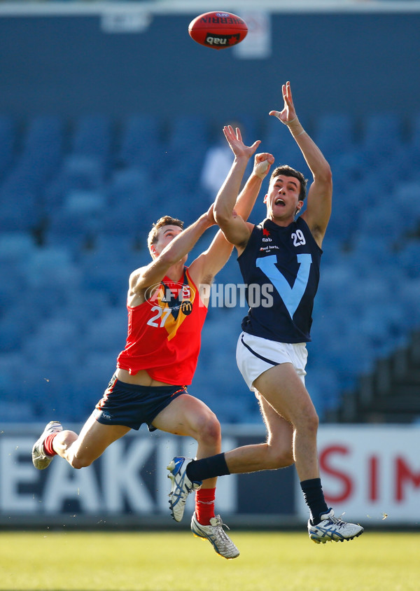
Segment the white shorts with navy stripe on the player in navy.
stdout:
[[307,356],[306,342],[276,342],[241,333],[237,343],[237,365],[252,391],[257,377],[280,363],[291,363],[304,384]]

